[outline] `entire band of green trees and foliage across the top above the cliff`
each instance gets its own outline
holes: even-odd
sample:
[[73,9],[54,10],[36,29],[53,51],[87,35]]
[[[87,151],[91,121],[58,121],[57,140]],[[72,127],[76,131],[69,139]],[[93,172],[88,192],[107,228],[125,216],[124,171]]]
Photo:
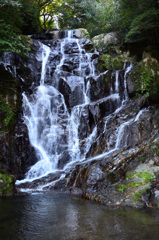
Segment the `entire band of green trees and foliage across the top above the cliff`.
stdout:
[[57,25],[84,27],[91,37],[117,31],[123,43],[158,43],[159,39],[157,0],[0,0],[0,16],[0,51],[23,52],[19,34]]

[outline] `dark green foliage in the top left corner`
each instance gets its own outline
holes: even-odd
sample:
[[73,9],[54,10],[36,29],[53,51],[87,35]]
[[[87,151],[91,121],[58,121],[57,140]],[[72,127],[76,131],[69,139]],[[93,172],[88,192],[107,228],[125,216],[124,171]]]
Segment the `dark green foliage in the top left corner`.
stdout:
[[29,49],[25,47],[19,36],[24,23],[22,14],[23,7],[20,0],[0,0],[0,52],[15,52],[27,56]]

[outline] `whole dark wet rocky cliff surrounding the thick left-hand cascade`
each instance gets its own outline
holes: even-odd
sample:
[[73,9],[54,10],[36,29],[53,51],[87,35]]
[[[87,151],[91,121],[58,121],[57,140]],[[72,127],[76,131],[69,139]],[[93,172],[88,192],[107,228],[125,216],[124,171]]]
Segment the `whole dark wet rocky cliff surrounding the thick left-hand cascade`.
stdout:
[[[61,172],[56,172],[47,178],[43,177],[20,187],[36,189],[37,186],[44,185],[44,189],[64,189],[111,206],[157,207],[159,196],[157,58],[154,58],[152,53],[148,54],[146,49],[142,53],[142,59],[137,61],[131,53],[121,50],[116,36],[112,33],[107,38],[104,37],[102,44],[100,39],[100,47],[101,45],[105,47],[105,50],[98,48],[104,51],[100,55],[94,50],[92,41],[83,38],[87,36],[86,31],[76,31],[74,38],[82,37],[81,40],[66,42],[65,46],[60,45],[59,40],[64,35],[64,32],[57,31],[34,35],[28,59],[12,53],[5,53],[1,57],[1,169],[21,179],[38,160],[35,148],[30,144],[21,104],[22,93],[25,92],[28,97],[32,96],[41,81],[42,41],[53,49],[49,55],[49,70],[46,71],[45,83],[52,84],[57,70],[59,74],[57,66],[60,66],[59,82],[56,86],[58,96],[60,99],[61,94],[63,96],[67,118],[73,111],[79,117],[76,122],[78,147],[84,158],[83,161],[70,164],[70,167],[65,169],[65,165],[71,162],[72,156],[75,155],[72,155],[66,147],[68,145],[66,136],[70,133],[63,121],[60,127],[66,132],[66,136],[60,135],[60,142],[62,141],[65,147],[58,147],[62,154],[58,159],[57,169],[65,172],[65,176],[61,178]],[[59,46],[63,46],[65,57]],[[80,75],[81,72],[83,75]],[[84,104],[83,82],[87,90],[86,98],[90,99]],[[44,125],[46,124],[47,119]],[[1,170],[2,184],[4,184],[3,171]],[[48,182],[49,187],[45,186]]]

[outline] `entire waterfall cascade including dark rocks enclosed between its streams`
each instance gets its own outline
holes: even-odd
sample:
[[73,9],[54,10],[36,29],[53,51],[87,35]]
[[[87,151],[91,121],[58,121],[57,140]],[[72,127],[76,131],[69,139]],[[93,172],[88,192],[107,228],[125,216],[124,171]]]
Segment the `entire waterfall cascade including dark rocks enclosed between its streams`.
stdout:
[[[74,38],[73,34],[73,31],[67,31],[67,36],[57,41],[56,50],[41,43],[40,84],[31,96],[23,93],[24,122],[38,159],[27,172],[25,181],[32,181],[85,160],[93,141],[98,138],[98,115],[104,115],[106,131],[108,121],[128,100],[126,78],[132,65],[128,68],[124,66],[123,88],[120,87],[120,71],[116,71],[110,95],[91,101],[90,81],[93,79],[96,84],[100,76],[92,57],[97,53],[87,53],[81,46],[82,41]],[[51,74],[50,66],[55,51],[58,51],[60,59]],[[121,129],[125,125],[118,129],[113,148],[108,148],[106,153],[89,158],[88,161],[118,149]]]

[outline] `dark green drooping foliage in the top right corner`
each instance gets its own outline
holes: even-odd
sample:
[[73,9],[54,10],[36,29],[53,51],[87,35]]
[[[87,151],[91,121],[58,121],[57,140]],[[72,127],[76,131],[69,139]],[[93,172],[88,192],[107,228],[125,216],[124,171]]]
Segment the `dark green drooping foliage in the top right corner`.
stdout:
[[118,9],[113,28],[123,42],[158,43],[159,3],[156,0],[116,0]]

